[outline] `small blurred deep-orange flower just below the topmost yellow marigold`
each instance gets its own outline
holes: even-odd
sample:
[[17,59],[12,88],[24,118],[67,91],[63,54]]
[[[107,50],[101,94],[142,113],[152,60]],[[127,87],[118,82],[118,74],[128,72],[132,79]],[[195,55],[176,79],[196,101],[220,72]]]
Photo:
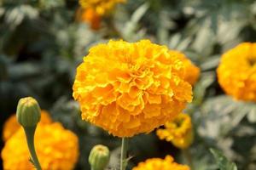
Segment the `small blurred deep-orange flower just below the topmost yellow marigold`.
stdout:
[[79,8],[77,19],[87,22],[93,30],[98,30],[101,25],[101,17],[99,14],[96,14],[93,8]]

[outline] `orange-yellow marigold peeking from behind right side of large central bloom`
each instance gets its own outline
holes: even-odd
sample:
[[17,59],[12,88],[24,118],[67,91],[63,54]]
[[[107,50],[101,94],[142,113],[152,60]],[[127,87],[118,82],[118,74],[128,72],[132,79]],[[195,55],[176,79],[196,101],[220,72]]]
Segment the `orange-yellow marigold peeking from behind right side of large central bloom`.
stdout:
[[176,54],[177,57],[183,61],[183,65],[185,66],[185,81],[189,82],[191,85],[194,85],[199,78],[200,68],[194,65],[191,60],[181,52],[170,50],[170,53]]

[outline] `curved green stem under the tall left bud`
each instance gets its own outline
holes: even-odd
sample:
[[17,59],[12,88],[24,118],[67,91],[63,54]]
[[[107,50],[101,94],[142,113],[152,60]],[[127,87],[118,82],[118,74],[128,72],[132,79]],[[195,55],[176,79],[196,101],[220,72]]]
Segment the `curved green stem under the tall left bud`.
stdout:
[[26,144],[28,146],[28,150],[30,152],[32,162],[37,170],[41,170],[42,168],[38,161],[38,156],[37,156],[37,153],[35,150],[35,145],[34,145],[34,134],[36,131],[36,126],[35,127],[24,127],[24,131],[26,134]]

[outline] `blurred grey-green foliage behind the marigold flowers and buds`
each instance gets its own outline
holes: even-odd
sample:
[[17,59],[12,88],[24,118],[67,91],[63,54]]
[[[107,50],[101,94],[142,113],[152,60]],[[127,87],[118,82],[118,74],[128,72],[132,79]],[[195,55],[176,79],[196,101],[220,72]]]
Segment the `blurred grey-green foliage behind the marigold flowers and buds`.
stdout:
[[[80,119],[72,97],[76,67],[99,42],[147,38],[183,51],[201,68],[194,101],[186,109],[195,127],[189,150],[196,170],[217,169],[210,147],[222,150],[239,169],[256,169],[256,105],[225,95],[215,71],[225,51],[240,42],[256,42],[255,1],[127,0],[102,17],[97,29],[81,19],[79,10],[75,0],[0,0],[1,128],[18,100],[32,96],[79,136],[77,169],[89,169],[87,157],[95,144],[108,145],[115,166],[120,140]],[[154,132],[137,135],[130,140],[134,157],[129,168],[167,154],[183,161],[181,151]]]

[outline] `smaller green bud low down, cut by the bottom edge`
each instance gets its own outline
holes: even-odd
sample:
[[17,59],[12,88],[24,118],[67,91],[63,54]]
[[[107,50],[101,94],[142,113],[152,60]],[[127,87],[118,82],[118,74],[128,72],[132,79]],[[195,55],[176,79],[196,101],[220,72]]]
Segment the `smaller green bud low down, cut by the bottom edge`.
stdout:
[[89,163],[91,170],[103,170],[108,166],[110,158],[109,150],[107,146],[102,144],[95,145],[90,150]]

